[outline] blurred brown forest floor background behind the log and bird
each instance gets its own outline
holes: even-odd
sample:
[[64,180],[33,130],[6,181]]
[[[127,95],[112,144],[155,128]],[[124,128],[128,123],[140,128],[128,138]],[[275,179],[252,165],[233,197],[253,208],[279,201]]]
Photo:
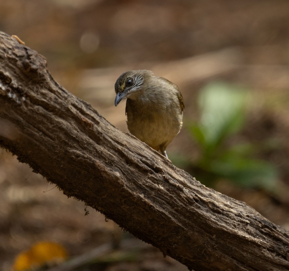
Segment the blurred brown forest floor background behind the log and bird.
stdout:
[[[287,0],[1,0],[0,30],[45,56],[60,85],[123,131],[125,102],[114,106],[122,72],[149,69],[177,84],[186,109],[172,162],[289,229]],[[133,249],[104,246],[127,240]],[[0,269],[37,242],[78,259],[70,270],[187,270],[1,149]]]

